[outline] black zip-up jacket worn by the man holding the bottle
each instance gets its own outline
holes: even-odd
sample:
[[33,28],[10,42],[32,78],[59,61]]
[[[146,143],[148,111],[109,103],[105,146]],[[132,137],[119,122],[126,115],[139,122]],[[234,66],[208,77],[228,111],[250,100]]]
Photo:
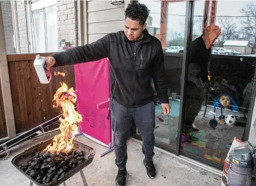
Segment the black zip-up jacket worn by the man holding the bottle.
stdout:
[[161,103],[169,103],[165,80],[164,54],[161,42],[150,36],[147,29],[134,51],[124,31],[110,33],[97,42],[78,46],[65,52],[53,54],[53,67],[110,60],[110,96],[128,108],[140,107],[153,101],[153,78]]

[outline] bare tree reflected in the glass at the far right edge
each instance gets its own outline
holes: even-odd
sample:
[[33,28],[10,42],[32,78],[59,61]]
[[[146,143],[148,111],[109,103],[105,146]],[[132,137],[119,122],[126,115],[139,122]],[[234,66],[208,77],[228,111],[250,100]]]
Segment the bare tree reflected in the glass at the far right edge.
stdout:
[[246,19],[242,21],[243,33],[250,42],[256,45],[256,5],[246,5],[241,13],[246,16]]

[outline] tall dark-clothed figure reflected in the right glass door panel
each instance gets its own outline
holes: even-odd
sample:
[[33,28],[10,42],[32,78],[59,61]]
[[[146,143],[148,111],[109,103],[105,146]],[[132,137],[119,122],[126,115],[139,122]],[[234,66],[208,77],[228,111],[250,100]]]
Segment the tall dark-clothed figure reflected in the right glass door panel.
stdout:
[[199,129],[193,125],[193,122],[205,99],[206,89],[210,87],[208,80],[208,64],[211,57],[211,48],[220,35],[220,31],[217,25],[213,24],[207,26],[202,36],[191,43],[185,98],[185,122],[183,129],[185,134],[199,131]]

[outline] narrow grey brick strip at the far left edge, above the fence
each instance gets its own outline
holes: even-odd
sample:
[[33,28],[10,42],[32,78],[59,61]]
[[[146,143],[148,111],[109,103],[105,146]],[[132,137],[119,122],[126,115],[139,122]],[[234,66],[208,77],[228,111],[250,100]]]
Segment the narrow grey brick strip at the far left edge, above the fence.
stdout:
[[15,54],[13,41],[13,18],[11,14],[11,1],[0,1],[2,10],[2,22],[4,25],[5,48],[7,54]]

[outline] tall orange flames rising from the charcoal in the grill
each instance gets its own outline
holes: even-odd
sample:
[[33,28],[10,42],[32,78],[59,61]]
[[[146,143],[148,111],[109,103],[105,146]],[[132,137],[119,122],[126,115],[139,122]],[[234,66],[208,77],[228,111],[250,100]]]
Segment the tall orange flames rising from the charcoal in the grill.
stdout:
[[78,123],[82,121],[82,115],[75,111],[77,95],[74,88],[69,88],[64,82],[60,82],[54,95],[53,107],[60,108],[62,117],[60,117],[60,134],[54,136],[53,144],[49,144],[45,152],[69,152],[73,147],[73,139],[78,133]]

